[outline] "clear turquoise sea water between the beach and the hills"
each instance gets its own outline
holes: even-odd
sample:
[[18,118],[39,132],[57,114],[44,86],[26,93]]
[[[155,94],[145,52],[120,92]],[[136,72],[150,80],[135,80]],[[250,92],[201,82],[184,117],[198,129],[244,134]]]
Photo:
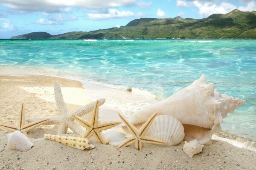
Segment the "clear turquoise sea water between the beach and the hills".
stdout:
[[65,71],[158,99],[205,74],[221,93],[247,101],[223,130],[256,139],[256,40],[0,40],[5,65]]

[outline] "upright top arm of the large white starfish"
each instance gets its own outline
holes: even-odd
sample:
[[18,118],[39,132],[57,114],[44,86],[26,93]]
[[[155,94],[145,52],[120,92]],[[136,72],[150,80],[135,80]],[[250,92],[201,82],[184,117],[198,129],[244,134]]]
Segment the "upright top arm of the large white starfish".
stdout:
[[56,105],[59,111],[61,112],[62,115],[67,114],[67,106],[65,104],[65,101],[61,93],[61,86],[56,82],[54,84],[54,94],[55,94]]

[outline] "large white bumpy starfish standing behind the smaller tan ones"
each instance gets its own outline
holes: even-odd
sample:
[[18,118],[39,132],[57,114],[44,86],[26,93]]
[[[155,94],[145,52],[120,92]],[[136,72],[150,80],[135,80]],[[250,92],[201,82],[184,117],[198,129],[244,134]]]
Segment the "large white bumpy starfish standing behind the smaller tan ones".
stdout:
[[[32,119],[28,119],[28,122],[34,122],[42,119],[49,119],[49,121],[44,122],[44,125],[59,125],[58,135],[67,133],[67,128],[69,127],[74,133],[76,133],[79,136],[82,136],[84,134],[84,130],[76,122],[74,122],[72,115],[84,116],[85,114],[90,113],[91,111],[93,111],[93,106],[95,105],[96,101],[91,102],[87,105],[84,105],[83,107],[77,109],[76,111],[68,113],[67,106],[65,104],[65,101],[61,93],[61,86],[56,82],[54,85],[54,94],[55,94],[56,105],[58,107],[58,110],[61,112],[61,116],[46,116],[46,117],[32,118]],[[99,101],[100,101],[99,105],[102,105],[105,103],[105,99],[99,99]]]

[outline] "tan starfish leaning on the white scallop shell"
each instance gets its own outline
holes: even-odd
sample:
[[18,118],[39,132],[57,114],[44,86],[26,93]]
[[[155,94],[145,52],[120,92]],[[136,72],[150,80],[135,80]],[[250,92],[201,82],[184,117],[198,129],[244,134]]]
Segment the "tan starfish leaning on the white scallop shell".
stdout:
[[154,139],[149,136],[145,136],[145,133],[147,132],[148,128],[150,127],[151,123],[153,122],[154,118],[157,116],[157,112],[154,113],[148,120],[145,122],[142,127],[140,127],[140,130],[137,130],[137,128],[132,125],[130,122],[128,122],[120,113],[120,118],[125,123],[127,129],[131,133],[131,137],[124,140],[121,144],[119,144],[118,148],[128,146],[129,144],[135,143],[135,147],[137,150],[140,150],[142,148],[142,142],[145,143],[152,143],[152,144],[167,144],[165,141],[161,141],[158,139]]

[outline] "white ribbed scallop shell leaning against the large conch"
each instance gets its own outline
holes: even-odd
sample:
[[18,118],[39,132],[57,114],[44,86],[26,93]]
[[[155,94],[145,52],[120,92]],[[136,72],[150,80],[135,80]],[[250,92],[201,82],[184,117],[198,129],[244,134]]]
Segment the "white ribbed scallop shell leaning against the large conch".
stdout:
[[175,146],[183,141],[184,127],[175,117],[157,116],[149,127],[147,136],[168,142],[166,146]]

